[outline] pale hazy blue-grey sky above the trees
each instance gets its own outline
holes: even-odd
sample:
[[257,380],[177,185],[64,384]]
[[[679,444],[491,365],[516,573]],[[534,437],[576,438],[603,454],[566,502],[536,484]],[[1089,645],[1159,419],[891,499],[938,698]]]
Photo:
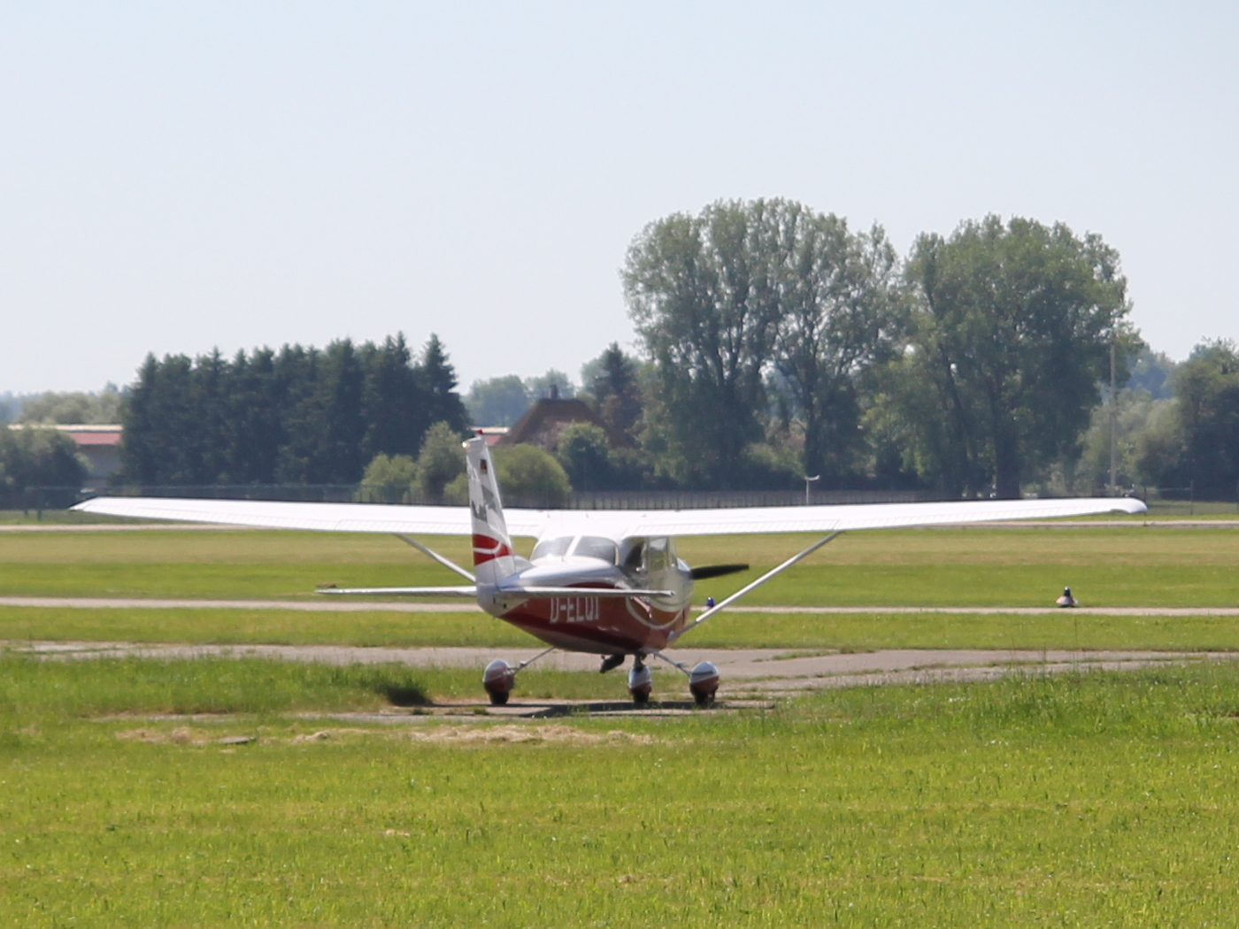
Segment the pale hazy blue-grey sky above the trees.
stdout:
[[790,197],[1119,249],[1157,349],[1239,337],[1239,6],[0,0],[0,391],[147,352],[631,342],[642,227]]

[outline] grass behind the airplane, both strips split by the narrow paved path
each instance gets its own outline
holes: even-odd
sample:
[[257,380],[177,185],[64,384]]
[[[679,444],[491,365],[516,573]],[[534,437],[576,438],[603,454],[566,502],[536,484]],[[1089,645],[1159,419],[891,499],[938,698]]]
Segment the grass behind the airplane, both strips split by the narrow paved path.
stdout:
[[[703,582],[721,598],[808,536],[688,539],[690,564],[746,560]],[[462,540],[442,550],[466,560]],[[751,603],[1046,606],[1070,585],[1090,606],[1239,604],[1234,529],[933,529],[854,533],[751,596]],[[299,598],[318,583],[455,582],[395,539],[313,533],[22,533],[0,535],[0,595]],[[0,607],[0,639],[352,645],[532,644],[483,614]],[[701,648],[1235,649],[1230,617],[735,613],[683,640]]]

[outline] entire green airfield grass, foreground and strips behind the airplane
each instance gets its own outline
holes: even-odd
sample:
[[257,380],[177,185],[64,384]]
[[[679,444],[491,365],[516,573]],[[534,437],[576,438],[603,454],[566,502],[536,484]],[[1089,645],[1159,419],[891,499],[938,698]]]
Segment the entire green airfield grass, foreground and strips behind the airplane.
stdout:
[[[724,596],[805,543],[683,554],[755,565],[700,590]],[[755,600],[1041,606],[1070,583],[1093,604],[1230,606],[1237,555],[1233,529],[857,533]],[[284,598],[320,582],[453,578],[373,536],[0,535],[5,595]],[[467,613],[30,607],[0,608],[0,639],[532,644]],[[725,613],[684,644],[1235,649],[1239,618]],[[623,691],[620,674],[530,669],[519,694]],[[0,925],[1233,923],[1230,664],[668,718],[316,715],[478,696],[476,670],[0,653]],[[240,736],[256,741],[221,742]]]

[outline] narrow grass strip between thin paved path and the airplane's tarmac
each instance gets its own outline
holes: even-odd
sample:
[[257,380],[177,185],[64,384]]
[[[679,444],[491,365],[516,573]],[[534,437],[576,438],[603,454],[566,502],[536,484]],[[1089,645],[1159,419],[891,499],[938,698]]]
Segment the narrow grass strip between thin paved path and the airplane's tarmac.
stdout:
[[[291,609],[0,607],[0,640],[187,644],[532,648],[538,639],[486,613]],[[887,648],[1239,649],[1239,617],[974,613],[787,614],[724,612],[678,643],[693,649]],[[674,652],[674,649],[673,649]]]

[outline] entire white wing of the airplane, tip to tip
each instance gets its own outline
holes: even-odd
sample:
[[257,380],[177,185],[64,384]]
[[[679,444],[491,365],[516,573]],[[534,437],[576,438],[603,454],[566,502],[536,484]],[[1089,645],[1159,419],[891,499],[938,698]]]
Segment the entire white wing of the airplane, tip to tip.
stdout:
[[[307,529],[335,533],[470,535],[467,507],[396,507],[372,503],[196,500],[160,497],[97,497],[73,509],[114,517],[185,523]],[[953,500],[871,503],[843,507],[745,507],[680,510],[504,509],[512,535],[587,535],[613,539],[659,535],[835,533],[922,525],[1053,519],[1098,513],[1144,513],[1126,497],[1044,500]]]

